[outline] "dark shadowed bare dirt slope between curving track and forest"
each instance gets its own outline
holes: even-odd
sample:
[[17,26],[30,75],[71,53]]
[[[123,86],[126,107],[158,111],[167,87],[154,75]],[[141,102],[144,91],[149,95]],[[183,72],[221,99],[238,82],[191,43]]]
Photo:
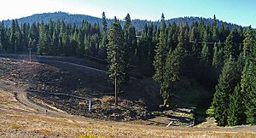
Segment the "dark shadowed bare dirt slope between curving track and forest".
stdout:
[[[0,63],[3,78],[30,92],[28,97],[32,101],[44,101],[71,114],[114,120],[148,118],[147,108],[157,106],[159,102],[156,96],[145,98],[148,89],[144,89],[141,80],[133,79],[123,88],[126,93],[119,95],[117,108],[113,105],[113,86],[108,83],[106,72],[95,72],[87,66],[70,66],[63,61],[42,64],[4,58]],[[154,92],[154,89],[150,90]],[[76,97],[90,99],[92,110],[88,112],[88,101]],[[151,99],[154,101],[147,102]]]

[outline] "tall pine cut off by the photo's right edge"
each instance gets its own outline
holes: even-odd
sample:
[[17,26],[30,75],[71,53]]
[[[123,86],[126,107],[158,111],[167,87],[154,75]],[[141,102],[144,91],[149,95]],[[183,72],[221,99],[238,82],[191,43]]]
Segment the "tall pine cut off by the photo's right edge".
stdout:
[[256,124],[256,40],[251,26],[247,27],[243,41],[245,66],[241,75],[241,92],[244,95],[247,124]]

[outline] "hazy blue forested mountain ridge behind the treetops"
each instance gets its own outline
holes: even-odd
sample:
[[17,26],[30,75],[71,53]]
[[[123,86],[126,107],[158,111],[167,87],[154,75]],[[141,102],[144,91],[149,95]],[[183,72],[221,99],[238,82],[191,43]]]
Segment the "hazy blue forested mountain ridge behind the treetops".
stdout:
[[[108,14],[107,14],[108,17]],[[131,16],[132,19],[132,16]],[[201,17],[179,17],[179,18],[173,18],[170,20],[166,20],[166,23],[184,23],[184,22],[188,22],[189,25],[192,24],[192,22],[195,21],[199,21],[199,20],[204,20],[204,22],[208,25],[208,24],[212,24],[212,19],[211,18],[201,18]],[[102,25],[102,19],[98,18],[98,17],[94,17],[94,16],[90,16],[90,15],[85,15],[85,14],[68,14],[65,12],[55,12],[55,13],[44,13],[44,14],[32,14],[31,16],[27,16],[27,17],[22,17],[20,19],[17,19],[18,22],[20,24],[24,24],[24,23],[29,23],[32,24],[34,22],[41,22],[42,20],[46,23],[49,22],[49,20],[52,21],[56,21],[56,20],[64,20],[67,24],[71,24],[71,25],[76,25],[79,26],[81,25],[83,20],[87,20],[91,23],[95,22],[98,23],[100,26]],[[112,22],[112,19],[108,19],[108,23]],[[122,20],[121,20],[121,24],[122,24]],[[151,24],[153,23],[154,25],[159,26],[160,25],[160,21],[156,20],[156,21],[150,21],[150,20],[132,20],[132,25],[136,27],[137,31],[141,31],[143,30],[143,27],[145,26],[145,24]],[[222,20],[217,20],[217,25],[221,26],[222,24],[225,24],[226,26],[228,26],[229,28],[233,28],[233,27],[239,27],[236,24],[233,23],[228,23],[228,22],[224,22]],[[10,26],[11,24],[11,20],[3,20],[3,24],[5,26]]]

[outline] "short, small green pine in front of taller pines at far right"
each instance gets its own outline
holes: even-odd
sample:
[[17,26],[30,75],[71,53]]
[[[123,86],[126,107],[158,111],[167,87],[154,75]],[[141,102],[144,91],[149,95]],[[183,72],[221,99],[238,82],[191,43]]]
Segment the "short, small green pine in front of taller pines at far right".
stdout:
[[228,125],[234,126],[242,124],[243,119],[243,102],[239,83],[237,83],[233,94],[230,95],[230,105],[228,109]]

